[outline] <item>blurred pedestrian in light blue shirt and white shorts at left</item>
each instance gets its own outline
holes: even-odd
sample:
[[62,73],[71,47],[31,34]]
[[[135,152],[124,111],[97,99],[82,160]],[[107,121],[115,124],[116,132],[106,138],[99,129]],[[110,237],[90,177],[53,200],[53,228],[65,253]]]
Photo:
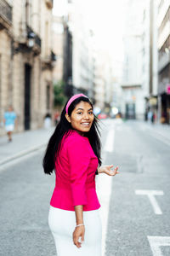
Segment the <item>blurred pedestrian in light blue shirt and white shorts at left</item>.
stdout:
[[16,113],[12,106],[8,107],[8,111],[4,113],[3,122],[8,135],[8,142],[12,142],[12,132],[14,131],[14,125],[16,122]]

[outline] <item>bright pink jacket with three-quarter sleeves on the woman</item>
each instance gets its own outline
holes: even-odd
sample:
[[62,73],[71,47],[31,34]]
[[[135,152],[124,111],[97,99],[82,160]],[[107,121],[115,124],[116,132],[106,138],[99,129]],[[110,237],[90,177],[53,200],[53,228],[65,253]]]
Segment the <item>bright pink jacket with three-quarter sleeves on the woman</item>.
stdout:
[[55,188],[50,205],[74,211],[74,206],[83,205],[83,211],[99,209],[95,189],[95,171],[98,158],[87,137],[71,131],[61,142],[55,163]]

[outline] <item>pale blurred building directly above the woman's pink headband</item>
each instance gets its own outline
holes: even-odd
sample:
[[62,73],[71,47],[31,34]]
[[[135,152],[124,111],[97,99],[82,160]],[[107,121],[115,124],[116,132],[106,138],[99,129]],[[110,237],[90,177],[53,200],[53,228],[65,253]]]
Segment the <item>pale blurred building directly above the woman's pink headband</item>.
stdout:
[[[83,92],[93,99],[94,56],[93,32],[88,26],[84,1],[65,0],[64,81],[65,94]],[[85,39],[86,38],[86,39]]]

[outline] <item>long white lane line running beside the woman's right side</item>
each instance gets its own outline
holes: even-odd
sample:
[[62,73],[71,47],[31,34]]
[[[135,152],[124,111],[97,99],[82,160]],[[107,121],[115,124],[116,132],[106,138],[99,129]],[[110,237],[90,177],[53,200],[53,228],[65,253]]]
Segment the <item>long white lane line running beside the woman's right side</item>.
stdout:
[[[105,162],[106,160],[106,154],[107,152],[113,152],[113,144],[114,144],[114,137],[115,137],[115,131],[112,130],[108,132],[106,141],[105,141],[105,147],[104,147],[104,154],[103,156],[103,163],[107,165]],[[108,223],[108,217],[109,217],[109,205],[110,205],[110,198],[111,198],[111,181],[112,177],[105,175],[105,174],[99,174],[97,177],[97,190],[98,190],[98,196],[99,201],[101,204],[100,212],[101,212],[101,222],[102,222],[102,256],[105,256],[105,242],[106,242],[106,233],[107,233],[107,223]]]

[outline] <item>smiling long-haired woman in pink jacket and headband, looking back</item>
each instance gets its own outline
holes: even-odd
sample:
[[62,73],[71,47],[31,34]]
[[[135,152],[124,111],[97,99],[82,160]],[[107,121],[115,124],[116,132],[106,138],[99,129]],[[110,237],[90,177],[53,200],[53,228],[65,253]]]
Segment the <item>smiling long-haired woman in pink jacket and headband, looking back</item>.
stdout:
[[105,172],[114,176],[118,167],[111,171],[113,166],[101,166],[98,134],[88,97],[72,96],[65,104],[43,159],[44,172],[51,174],[55,170],[56,174],[48,224],[58,256],[101,255],[95,174]]

